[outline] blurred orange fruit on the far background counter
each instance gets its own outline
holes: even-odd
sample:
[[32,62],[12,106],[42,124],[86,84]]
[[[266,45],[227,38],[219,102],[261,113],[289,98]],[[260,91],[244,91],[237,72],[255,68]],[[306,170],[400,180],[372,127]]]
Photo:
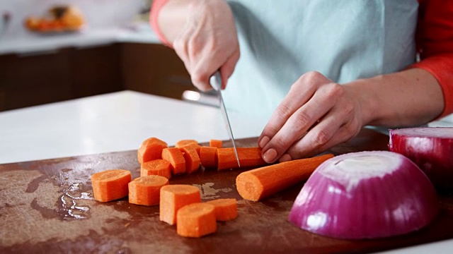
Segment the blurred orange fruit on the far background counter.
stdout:
[[42,17],[25,18],[25,28],[37,32],[75,31],[84,24],[84,16],[76,6],[54,6]]

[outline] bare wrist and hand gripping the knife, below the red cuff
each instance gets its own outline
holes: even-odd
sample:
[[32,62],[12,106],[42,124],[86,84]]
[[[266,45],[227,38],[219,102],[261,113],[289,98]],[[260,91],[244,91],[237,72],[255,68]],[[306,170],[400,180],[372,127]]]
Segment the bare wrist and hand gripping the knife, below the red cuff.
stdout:
[[231,8],[223,0],[156,0],[151,26],[164,44],[175,49],[192,83],[210,90],[217,70],[222,87],[239,60],[239,41]]

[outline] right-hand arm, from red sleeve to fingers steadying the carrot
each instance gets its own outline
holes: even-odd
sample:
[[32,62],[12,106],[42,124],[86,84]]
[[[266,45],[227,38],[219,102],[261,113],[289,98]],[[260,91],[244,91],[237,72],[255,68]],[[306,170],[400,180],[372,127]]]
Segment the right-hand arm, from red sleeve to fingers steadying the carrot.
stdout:
[[[426,15],[430,9],[423,4],[428,3],[437,5],[435,14],[431,13],[436,22]],[[263,147],[265,161],[316,155],[350,140],[365,125],[414,126],[452,113],[453,2],[442,3],[432,0],[420,5],[428,10],[425,25],[444,31],[419,33],[419,38],[425,38],[420,63],[344,85],[320,73],[302,75],[260,135],[258,145]]]

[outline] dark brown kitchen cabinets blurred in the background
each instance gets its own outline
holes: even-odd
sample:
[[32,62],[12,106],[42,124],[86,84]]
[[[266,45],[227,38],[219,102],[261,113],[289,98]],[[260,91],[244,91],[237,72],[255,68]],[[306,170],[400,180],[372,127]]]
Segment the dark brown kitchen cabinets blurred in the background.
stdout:
[[0,111],[120,90],[181,99],[195,90],[173,49],[113,43],[0,56]]

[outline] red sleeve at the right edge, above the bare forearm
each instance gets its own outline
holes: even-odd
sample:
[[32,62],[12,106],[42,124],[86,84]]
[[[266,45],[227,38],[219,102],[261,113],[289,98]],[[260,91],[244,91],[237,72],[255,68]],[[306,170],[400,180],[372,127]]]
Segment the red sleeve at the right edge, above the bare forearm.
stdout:
[[429,71],[444,93],[439,117],[453,113],[453,1],[420,0],[417,44],[421,61],[413,68]]

